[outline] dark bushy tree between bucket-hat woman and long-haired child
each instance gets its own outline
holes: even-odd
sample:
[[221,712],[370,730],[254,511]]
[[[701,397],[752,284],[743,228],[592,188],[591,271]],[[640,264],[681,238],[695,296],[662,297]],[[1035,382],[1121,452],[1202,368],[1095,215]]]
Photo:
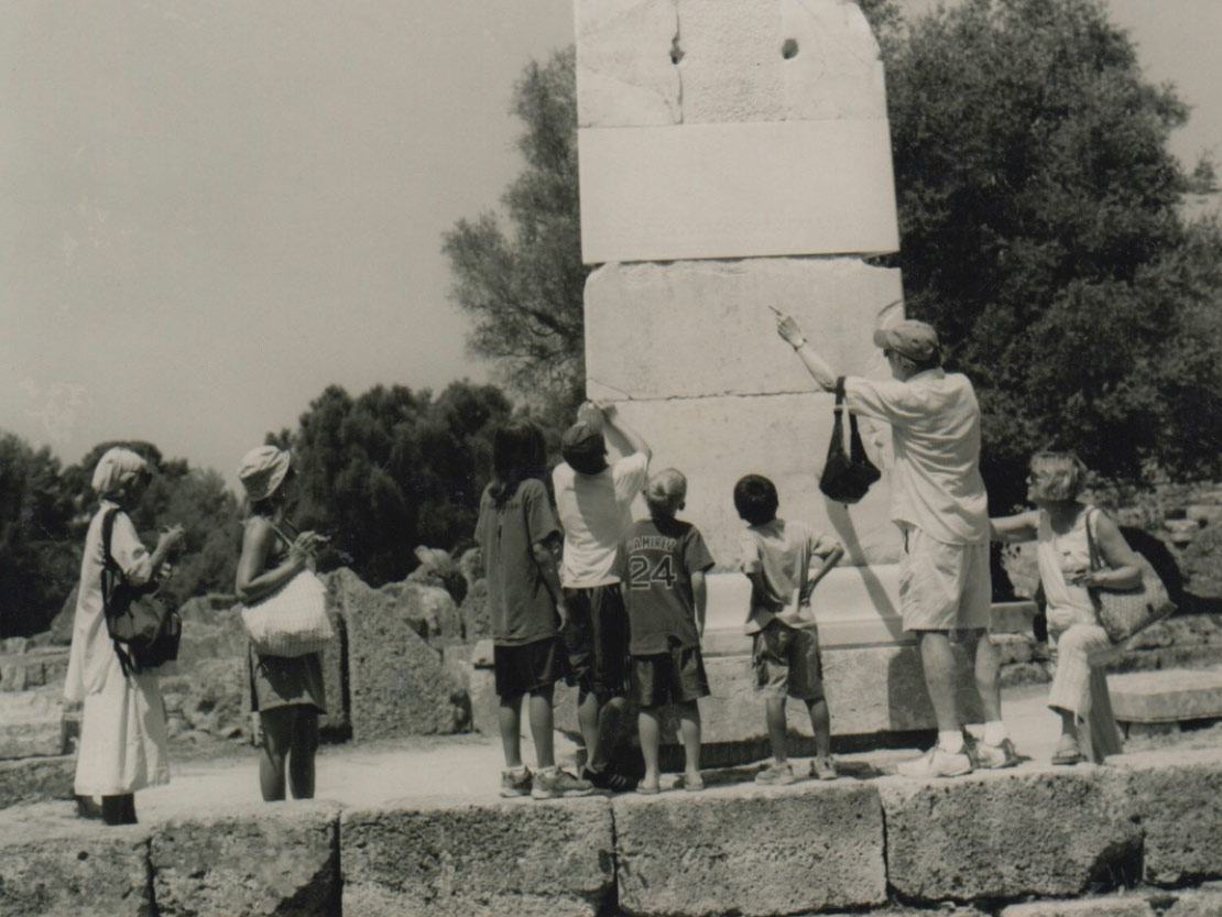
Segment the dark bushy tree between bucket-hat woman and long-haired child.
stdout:
[[375,386],[353,399],[337,385],[310,402],[298,429],[275,438],[293,450],[299,527],[326,532],[324,566],[348,566],[380,586],[402,580],[425,544],[469,540],[491,468],[491,438],[512,406],[492,385]]

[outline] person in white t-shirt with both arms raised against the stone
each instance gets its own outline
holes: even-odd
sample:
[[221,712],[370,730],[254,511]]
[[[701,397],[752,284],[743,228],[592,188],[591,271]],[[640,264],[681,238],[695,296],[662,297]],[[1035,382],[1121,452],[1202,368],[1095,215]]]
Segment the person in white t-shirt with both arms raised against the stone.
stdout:
[[[615,465],[606,460],[604,425],[632,450]],[[620,538],[632,525],[632,501],[645,484],[649,445],[617,418],[613,405],[585,402],[561,438],[561,455],[565,461],[551,479],[565,527],[560,578],[571,626],[563,637],[585,741],[582,776],[600,790],[629,790],[633,780],[609,767],[609,740],[623,712],[628,681],[628,614],[615,559]]]

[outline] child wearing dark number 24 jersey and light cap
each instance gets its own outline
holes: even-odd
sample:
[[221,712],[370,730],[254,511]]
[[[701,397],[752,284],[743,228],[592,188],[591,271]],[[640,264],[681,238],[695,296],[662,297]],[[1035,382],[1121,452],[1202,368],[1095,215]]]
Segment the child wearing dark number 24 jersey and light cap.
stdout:
[[699,529],[681,522],[687,479],[667,468],[645,484],[650,518],[634,522],[620,542],[616,570],[628,608],[633,699],[640,709],[640,751],[645,776],[640,794],[660,789],[657,752],[661,743],[657,710],[673,703],[683,738],[683,786],[703,790],[700,776],[700,708],[709,696],[709,679],[700,657],[704,632],[704,575],[712,558]]

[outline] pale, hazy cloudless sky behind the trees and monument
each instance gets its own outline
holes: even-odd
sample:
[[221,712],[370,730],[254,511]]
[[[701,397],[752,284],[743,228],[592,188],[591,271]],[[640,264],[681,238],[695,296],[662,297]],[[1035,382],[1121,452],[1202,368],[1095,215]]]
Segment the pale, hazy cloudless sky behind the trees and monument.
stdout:
[[[1173,152],[1222,159],[1222,2],[1110,5],[1193,105]],[[329,384],[486,379],[441,234],[497,207],[513,82],[572,34],[572,0],[0,5],[0,430],[233,485]]]

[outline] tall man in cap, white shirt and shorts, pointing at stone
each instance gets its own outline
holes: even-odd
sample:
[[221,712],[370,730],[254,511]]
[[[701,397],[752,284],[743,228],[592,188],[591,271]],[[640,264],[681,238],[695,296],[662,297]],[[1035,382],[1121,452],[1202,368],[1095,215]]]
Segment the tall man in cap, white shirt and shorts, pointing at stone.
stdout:
[[[825,390],[836,373],[783,315],[777,333]],[[997,650],[989,639],[992,582],[989,571],[989,498],[980,477],[980,405],[962,373],[942,369],[937,333],[906,319],[874,333],[892,379],[844,379],[844,402],[863,417],[891,425],[891,518],[903,536],[899,610],[916,635],[938,738],[923,757],[904,762],[910,776],[958,776],[973,764],[1018,763],[1001,720]],[[985,714],[973,756],[964,743],[956,703],[952,633],[968,650]],[[973,760],[974,759],[974,760]]]

